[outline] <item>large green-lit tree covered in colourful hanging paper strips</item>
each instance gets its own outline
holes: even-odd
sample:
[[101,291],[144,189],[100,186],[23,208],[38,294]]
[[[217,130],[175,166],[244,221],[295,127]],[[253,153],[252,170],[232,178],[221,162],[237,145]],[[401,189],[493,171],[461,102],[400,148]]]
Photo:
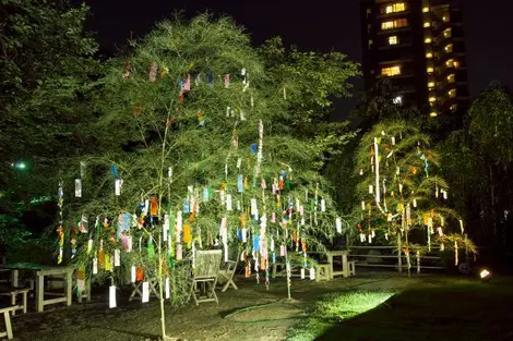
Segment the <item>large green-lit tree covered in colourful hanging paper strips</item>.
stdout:
[[[69,233],[72,245],[83,245],[72,246],[81,273],[110,278],[112,287],[123,267],[156,278],[163,336],[164,300],[187,300],[189,277],[180,273],[189,264],[194,270],[196,249],[222,248],[227,260],[240,245],[247,276],[267,285],[279,256],[288,269],[299,258],[313,277],[307,248],[322,249],[320,236],[342,232],[319,168],[326,148],[345,138],[327,130],[296,134],[291,122],[312,113],[298,113],[287,98],[305,84],[290,84],[287,97],[227,19],[164,22],[134,47],[104,80],[95,127],[108,153],[74,160],[65,181],[80,198],[67,199],[64,215],[84,217],[63,229],[63,241]],[[98,217],[94,229],[84,229],[88,217]]]

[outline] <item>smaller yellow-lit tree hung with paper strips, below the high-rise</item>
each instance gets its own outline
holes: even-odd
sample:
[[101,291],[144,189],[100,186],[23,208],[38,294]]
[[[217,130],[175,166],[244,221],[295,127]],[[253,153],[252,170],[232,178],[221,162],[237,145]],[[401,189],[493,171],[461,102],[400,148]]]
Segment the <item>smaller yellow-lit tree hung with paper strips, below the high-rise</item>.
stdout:
[[460,249],[476,252],[463,220],[444,205],[449,186],[437,175],[438,166],[429,137],[404,121],[374,125],[357,153],[359,241],[395,243],[408,275],[411,256],[418,261],[433,243],[453,249],[456,265]]

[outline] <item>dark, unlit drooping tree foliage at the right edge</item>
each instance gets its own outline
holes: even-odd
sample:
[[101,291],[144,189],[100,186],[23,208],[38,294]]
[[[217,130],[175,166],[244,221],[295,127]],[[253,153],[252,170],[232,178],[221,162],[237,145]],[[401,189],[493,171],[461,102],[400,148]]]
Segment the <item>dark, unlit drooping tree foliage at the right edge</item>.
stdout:
[[482,93],[468,111],[464,130],[439,145],[443,172],[453,185],[454,207],[470,222],[481,245],[508,249],[511,202],[511,94],[501,88]]

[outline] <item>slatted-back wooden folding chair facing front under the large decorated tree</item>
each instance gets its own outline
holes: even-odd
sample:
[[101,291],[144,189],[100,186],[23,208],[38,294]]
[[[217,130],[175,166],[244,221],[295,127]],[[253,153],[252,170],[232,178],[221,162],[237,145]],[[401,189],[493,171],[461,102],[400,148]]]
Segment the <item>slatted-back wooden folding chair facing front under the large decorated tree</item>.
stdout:
[[[195,255],[195,268],[192,270],[192,285],[189,300],[192,295],[195,305],[203,302],[219,303],[215,294],[215,285],[217,284],[217,275],[219,273],[220,249],[198,251]],[[203,295],[196,294],[198,283],[203,285]]]

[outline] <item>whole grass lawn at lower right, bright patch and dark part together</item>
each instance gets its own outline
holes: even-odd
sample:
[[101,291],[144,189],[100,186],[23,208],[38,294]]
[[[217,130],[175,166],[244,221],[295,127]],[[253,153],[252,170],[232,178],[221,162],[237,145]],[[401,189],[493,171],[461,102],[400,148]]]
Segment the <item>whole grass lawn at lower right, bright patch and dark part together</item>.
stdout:
[[431,278],[396,292],[345,291],[319,302],[287,340],[513,340],[512,289],[511,279]]

